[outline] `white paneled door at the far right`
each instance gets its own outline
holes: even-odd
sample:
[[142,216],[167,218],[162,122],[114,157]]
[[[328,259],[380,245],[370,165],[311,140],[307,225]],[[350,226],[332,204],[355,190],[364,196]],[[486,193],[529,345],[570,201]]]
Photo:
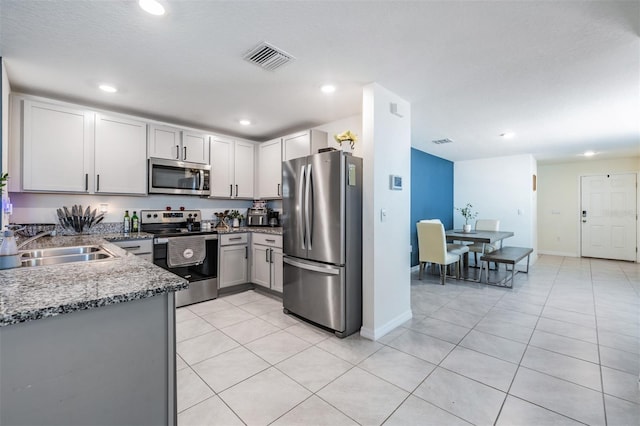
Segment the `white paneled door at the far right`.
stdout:
[[581,178],[582,256],[636,260],[636,174]]

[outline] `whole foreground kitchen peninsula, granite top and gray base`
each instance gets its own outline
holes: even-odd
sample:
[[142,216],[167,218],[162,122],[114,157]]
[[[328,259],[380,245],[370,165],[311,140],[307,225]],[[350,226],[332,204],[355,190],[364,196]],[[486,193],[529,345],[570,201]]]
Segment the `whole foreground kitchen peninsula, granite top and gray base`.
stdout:
[[105,237],[24,249],[115,258],[0,271],[0,424],[176,424],[173,292],[188,284]]

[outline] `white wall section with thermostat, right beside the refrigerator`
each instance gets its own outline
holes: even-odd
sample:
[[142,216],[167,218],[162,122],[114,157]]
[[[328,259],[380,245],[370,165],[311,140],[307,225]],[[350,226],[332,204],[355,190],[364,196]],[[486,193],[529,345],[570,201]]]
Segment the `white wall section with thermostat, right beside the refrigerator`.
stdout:
[[[404,115],[390,113],[396,103]],[[345,129],[346,130],[346,129]],[[342,131],[342,130],[341,130]],[[411,107],[378,84],[363,91],[363,337],[376,340],[411,314],[409,233],[411,210]],[[402,191],[389,189],[401,175]],[[386,210],[386,220],[381,211]]]

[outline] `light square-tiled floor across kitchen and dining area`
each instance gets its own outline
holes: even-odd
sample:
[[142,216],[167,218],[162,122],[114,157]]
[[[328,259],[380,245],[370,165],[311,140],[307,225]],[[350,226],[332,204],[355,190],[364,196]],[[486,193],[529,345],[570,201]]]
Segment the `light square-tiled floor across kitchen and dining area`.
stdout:
[[639,265],[542,256],[513,289],[412,278],[413,319],[377,342],[254,291],[178,309],[179,426],[640,424]]

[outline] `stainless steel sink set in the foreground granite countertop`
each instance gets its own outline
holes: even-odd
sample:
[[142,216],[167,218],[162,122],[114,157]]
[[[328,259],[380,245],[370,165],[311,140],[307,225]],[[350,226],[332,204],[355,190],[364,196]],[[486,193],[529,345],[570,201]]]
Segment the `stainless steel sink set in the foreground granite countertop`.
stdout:
[[20,251],[22,266],[60,265],[75,262],[93,262],[116,256],[101,246],[56,247]]

